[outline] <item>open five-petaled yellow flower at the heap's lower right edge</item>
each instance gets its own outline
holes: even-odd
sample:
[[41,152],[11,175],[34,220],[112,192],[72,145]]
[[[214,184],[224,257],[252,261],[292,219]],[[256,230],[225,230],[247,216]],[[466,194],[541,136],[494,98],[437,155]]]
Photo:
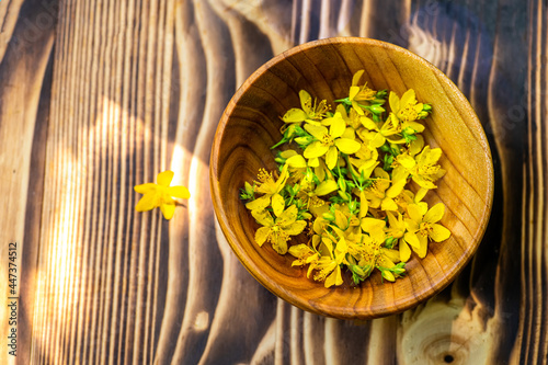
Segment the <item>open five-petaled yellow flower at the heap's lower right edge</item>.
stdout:
[[437,221],[445,213],[445,205],[438,203],[425,214],[416,204],[408,205],[409,218],[406,218],[408,232],[406,241],[413,248],[419,258],[424,258],[429,248],[429,238],[435,242],[442,242],[449,238],[450,231]]

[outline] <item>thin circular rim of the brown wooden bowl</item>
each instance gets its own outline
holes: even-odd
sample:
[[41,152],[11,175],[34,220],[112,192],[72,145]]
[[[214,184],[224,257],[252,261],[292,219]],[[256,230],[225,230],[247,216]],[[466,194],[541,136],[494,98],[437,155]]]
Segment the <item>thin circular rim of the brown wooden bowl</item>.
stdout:
[[[279,61],[283,61],[285,58],[290,57],[299,52],[316,48],[316,47],[321,47],[324,45],[336,45],[336,44],[355,44],[359,46],[373,46],[373,47],[381,47],[388,50],[392,52],[398,52],[400,54],[403,54],[406,57],[409,57],[413,59],[414,61],[421,62],[423,66],[430,68],[434,75],[438,79],[443,79],[445,81],[445,84],[449,87],[453,91],[453,95],[456,96],[460,105],[464,106],[464,110],[466,111],[468,115],[468,121],[471,121],[471,123],[467,124],[467,126],[475,132],[475,134],[478,136],[478,144],[482,147],[486,157],[488,157],[488,161],[486,161],[486,168],[487,168],[487,176],[486,181],[488,183],[487,186],[487,201],[486,201],[486,214],[482,215],[482,219],[478,224],[478,230],[475,235],[473,238],[476,238],[473,244],[467,246],[467,249],[465,250],[461,260],[457,261],[457,263],[460,263],[460,266],[457,267],[457,270],[453,270],[448,272],[445,277],[441,281],[438,281],[435,285],[429,287],[427,290],[424,290],[421,296],[413,296],[410,297],[409,300],[404,301],[403,304],[399,304],[398,307],[391,306],[391,307],[384,307],[379,309],[378,311],[372,312],[366,311],[366,312],[359,312],[356,311],[356,308],[353,308],[352,312],[349,312],[349,310],[344,310],[346,307],[329,307],[329,310],[327,310],[323,307],[318,307],[318,306],[312,306],[307,299],[302,299],[298,295],[293,295],[290,290],[284,290],[281,286],[278,285],[273,285],[272,281],[266,276],[263,275],[260,270],[256,270],[255,272],[250,270],[250,266],[258,267],[255,264],[252,263],[252,261],[247,256],[246,251],[236,242],[238,241],[237,237],[235,233],[231,231],[229,226],[225,223],[226,219],[228,219],[228,214],[224,209],[222,202],[220,201],[220,185],[219,182],[217,181],[216,176],[218,174],[219,166],[219,151],[220,151],[220,141],[221,137],[224,135],[225,128],[227,126],[227,123],[229,121],[229,116],[237,106],[237,103],[239,99],[244,94],[244,92],[248,90],[249,85],[253,84],[256,79],[259,79],[264,72],[266,72],[272,66],[278,64]],[[246,270],[256,280],[259,281],[266,289],[269,289],[271,293],[275,294],[277,297],[290,303],[292,305],[313,312],[313,313],[320,313],[323,316],[328,317],[334,317],[334,318],[341,318],[341,319],[373,319],[373,318],[380,318],[380,317],[386,317],[390,315],[396,315],[399,312],[402,312],[404,310],[408,310],[410,308],[415,307],[420,303],[423,303],[424,300],[427,300],[435,294],[442,292],[445,287],[447,287],[455,278],[456,276],[464,270],[464,267],[467,266],[473,254],[476,253],[479,244],[481,243],[481,240],[483,238],[483,235],[486,232],[491,210],[492,210],[492,203],[493,203],[493,196],[494,196],[494,169],[493,169],[493,160],[492,160],[492,153],[491,153],[491,148],[488,141],[488,138],[486,136],[484,129],[481,125],[481,122],[479,121],[476,112],[473,111],[472,106],[470,105],[468,99],[463,94],[463,92],[457,88],[457,85],[444,73],[442,72],[437,67],[435,67],[433,64],[427,61],[421,56],[415,55],[414,53],[393,45],[391,43],[387,43],[384,41],[378,41],[378,39],[372,39],[372,38],[365,38],[365,37],[355,37],[355,36],[339,36],[339,37],[329,37],[329,38],[323,38],[323,39],[317,39],[317,41],[311,41],[301,45],[294,46],[285,52],[282,52],[281,54],[274,56],[272,59],[263,64],[261,67],[259,67],[236,91],[236,93],[232,95],[230,99],[229,103],[227,104],[225,111],[222,112],[222,115],[220,117],[219,124],[217,126],[213,146],[212,146],[212,153],[210,153],[210,159],[209,159],[209,183],[210,183],[210,194],[212,194],[212,201],[214,205],[214,210],[216,215],[216,219],[219,223],[219,226],[222,230],[222,233],[225,235],[225,238],[227,239],[228,243],[230,244],[232,251],[236,253],[240,262],[243,264]],[[319,283],[321,285],[321,283]],[[363,284],[362,284],[363,285]],[[332,288],[335,289],[335,288]]]

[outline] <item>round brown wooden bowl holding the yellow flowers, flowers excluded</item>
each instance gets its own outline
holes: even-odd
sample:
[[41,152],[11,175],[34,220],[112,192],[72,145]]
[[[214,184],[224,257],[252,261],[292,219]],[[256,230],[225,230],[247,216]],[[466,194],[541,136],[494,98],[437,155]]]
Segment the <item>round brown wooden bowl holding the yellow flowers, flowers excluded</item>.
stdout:
[[[442,224],[452,236],[431,242],[429,254],[412,256],[403,278],[384,282],[378,272],[358,286],[350,274],[342,286],[326,288],[306,277],[306,267],[292,267],[294,258],[279,255],[269,243],[253,240],[259,227],[239,198],[246,181],[260,168],[274,170],[270,149],[281,139],[281,116],[298,107],[299,90],[318,99],[345,98],[352,76],[401,95],[414,89],[433,106],[425,119],[426,144],[442,147],[439,163],[447,170],[429,192],[430,206],[443,202]],[[338,37],[292,48],[258,69],[236,92],[219,122],[210,160],[210,184],[220,227],[246,269],[269,290],[316,313],[342,319],[372,319],[412,308],[447,286],[470,260],[486,230],[493,198],[493,166],[478,117],[457,87],[421,57],[395,45]],[[346,273],[347,274],[347,273]]]

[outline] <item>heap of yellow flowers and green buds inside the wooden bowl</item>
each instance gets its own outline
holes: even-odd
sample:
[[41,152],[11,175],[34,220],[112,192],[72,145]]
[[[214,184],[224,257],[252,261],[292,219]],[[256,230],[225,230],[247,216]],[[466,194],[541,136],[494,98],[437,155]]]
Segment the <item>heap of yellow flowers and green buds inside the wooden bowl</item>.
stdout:
[[[334,111],[300,91],[300,109],[282,117],[283,138],[273,146],[283,147],[279,171],[261,169],[240,195],[261,225],[256,243],[288,252],[293,265],[308,265],[307,276],[326,287],[341,285],[345,267],[355,284],[375,269],[393,282],[412,251],[424,258],[430,240],[450,236],[438,224],[445,206],[422,202],[445,174],[442,150],[424,146],[421,136],[431,105],[418,102],[412,89],[399,98],[359,84],[363,73],[354,75]],[[308,243],[288,244],[302,232]]]

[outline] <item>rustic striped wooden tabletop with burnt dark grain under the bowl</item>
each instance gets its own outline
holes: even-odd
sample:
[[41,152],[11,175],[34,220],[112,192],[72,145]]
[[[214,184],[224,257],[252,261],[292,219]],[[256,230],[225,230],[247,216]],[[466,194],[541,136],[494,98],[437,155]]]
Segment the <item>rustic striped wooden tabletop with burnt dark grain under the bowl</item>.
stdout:
[[[547,3],[540,0],[0,1],[1,364],[546,364]],[[278,300],[215,221],[208,158],[246,78],[307,41],[423,56],[491,144],[493,214],[425,305],[353,322]],[[171,221],[133,186],[170,168]],[[18,356],[8,244],[18,242]]]

